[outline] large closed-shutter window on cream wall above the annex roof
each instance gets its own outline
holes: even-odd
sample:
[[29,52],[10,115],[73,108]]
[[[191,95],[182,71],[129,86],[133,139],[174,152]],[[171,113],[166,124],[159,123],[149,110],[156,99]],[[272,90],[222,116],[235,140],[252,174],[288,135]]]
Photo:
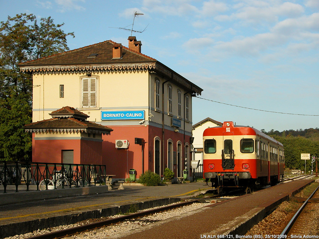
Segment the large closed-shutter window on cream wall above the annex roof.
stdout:
[[82,107],[97,107],[97,85],[96,77],[86,77],[81,79]]

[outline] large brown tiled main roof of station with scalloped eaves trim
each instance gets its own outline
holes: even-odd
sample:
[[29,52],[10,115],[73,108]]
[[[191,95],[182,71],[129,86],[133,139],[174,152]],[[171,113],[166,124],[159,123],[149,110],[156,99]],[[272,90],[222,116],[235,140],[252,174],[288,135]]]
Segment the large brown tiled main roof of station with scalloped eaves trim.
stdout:
[[201,95],[202,88],[150,56],[121,45],[122,56],[114,58],[113,47],[115,45],[118,46],[120,44],[107,40],[36,60],[22,62],[18,66],[20,71],[32,74],[85,74],[87,72],[148,70],[167,77],[193,95]]

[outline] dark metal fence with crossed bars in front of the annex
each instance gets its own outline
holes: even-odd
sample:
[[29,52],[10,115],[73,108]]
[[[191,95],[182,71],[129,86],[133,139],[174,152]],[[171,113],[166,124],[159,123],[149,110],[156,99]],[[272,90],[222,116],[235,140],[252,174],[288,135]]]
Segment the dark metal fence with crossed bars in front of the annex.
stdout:
[[36,190],[104,185],[106,165],[0,161],[0,185],[36,185]]

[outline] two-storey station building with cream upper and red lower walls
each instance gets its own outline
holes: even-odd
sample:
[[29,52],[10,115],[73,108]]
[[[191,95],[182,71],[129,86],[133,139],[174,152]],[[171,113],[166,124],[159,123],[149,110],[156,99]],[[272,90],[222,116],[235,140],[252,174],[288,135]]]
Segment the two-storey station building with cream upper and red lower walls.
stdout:
[[[33,77],[33,122],[72,107],[90,122],[113,129],[101,134],[101,163],[114,178],[127,178],[130,169],[137,177],[146,170],[163,176],[166,167],[182,177],[191,160],[192,97],[203,89],[142,54],[136,37],[128,41],[129,47],[107,40],[19,64]],[[71,140],[67,134],[65,140]],[[93,139],[93,134],[77,137]],[[33,142],[49,145],[55,138],[33,133]],[[67,145],[63,150],[73,150]],[[41,150],[37,147],[33,150]],[[58,155],[51,158],[62,163],[62,150],[53,153]],[[33,162],[43,161],[39,157],[33,154]]]

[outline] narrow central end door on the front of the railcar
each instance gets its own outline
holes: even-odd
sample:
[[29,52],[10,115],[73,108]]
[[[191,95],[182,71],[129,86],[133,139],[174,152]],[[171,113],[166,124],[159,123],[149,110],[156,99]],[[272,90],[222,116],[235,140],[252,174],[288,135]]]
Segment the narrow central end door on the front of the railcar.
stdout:
[[234,162],[234,149],[233,149],[233,141],[234,141],[234,133],[224,133],[224,149],[222,150],[222,167],[223,170],[234,170],[235,162]]

